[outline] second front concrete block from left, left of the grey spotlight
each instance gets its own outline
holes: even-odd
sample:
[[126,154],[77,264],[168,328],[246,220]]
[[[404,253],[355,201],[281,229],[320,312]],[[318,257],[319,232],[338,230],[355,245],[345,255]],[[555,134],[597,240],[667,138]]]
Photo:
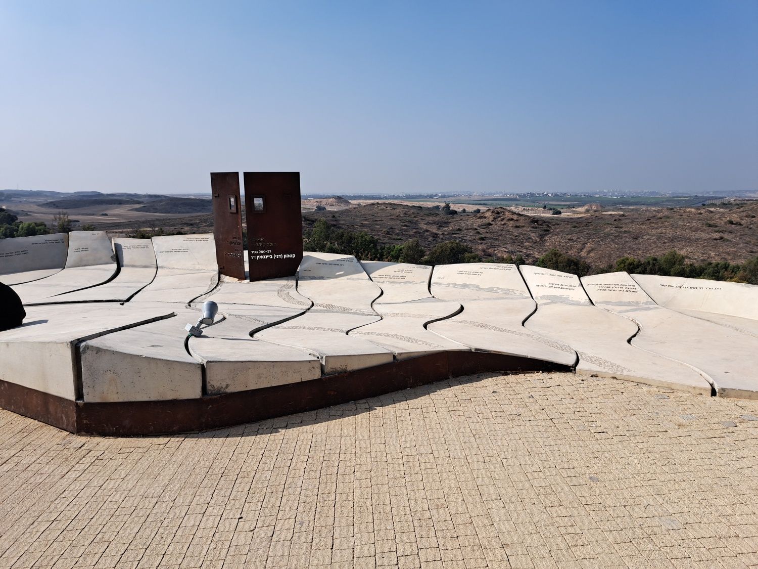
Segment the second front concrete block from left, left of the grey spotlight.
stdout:
[[[134,306],[133,303],[127,306]],[[184,325],[199,310],[181,304],[138,303],[177,316],[122,330],[80,344],[86,402],[161,401],[202,396],[202,364],[185,347]]]

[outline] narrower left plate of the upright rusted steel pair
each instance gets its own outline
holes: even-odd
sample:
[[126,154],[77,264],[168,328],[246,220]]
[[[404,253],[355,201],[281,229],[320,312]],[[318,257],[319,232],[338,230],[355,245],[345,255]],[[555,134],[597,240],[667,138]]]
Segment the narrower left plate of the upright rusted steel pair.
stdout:
[[221,275],[245,279],[240,173],[211,172],[213,237]]

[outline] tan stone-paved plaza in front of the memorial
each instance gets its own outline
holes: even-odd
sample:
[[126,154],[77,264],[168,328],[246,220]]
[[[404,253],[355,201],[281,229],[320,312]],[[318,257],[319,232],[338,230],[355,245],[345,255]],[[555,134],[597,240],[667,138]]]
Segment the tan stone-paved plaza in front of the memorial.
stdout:
[[0,567],[749,567],[756,415],[572,374],[170,437],[0,410]]

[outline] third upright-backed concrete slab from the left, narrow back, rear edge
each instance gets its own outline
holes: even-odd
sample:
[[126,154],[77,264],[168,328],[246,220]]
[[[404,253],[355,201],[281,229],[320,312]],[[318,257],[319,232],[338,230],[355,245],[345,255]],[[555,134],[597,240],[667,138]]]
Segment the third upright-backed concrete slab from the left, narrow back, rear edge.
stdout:
[[127,302],[155,278],[155,252],[149,239],[114,237],[113,247],[121,269],[112,281],[38,303]]

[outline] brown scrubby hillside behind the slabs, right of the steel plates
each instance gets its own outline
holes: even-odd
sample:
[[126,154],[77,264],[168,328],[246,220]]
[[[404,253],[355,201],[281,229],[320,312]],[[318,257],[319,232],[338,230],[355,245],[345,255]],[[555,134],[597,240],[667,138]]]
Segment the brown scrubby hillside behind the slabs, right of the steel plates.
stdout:
[[308,212],[339,228],[367,231],[381,244],[418,239],[424,248],[459,240],[483,256],[537,259],[552,248],[603,265],[622,256],[676,249],[692,261],[742,262],[758,254],[758,202],[728,208],[628,209],[581,215],[530,216],[494,208],[445,215],[437,209],[372,203],[340,212]]

